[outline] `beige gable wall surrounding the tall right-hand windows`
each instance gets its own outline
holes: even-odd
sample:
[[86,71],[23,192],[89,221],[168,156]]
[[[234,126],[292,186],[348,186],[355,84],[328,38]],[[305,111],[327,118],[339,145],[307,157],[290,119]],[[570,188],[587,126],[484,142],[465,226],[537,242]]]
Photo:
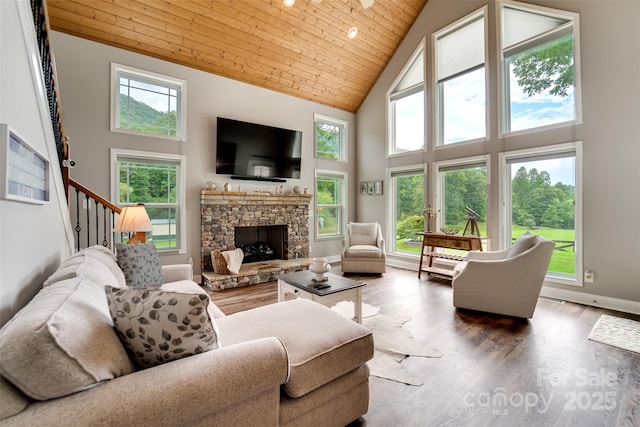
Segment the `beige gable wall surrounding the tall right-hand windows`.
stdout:
[[[504,150],[543,146],[581,140],[584,148],[584,267],[595,272],[595,282],[584,287],[549,285],[569,289],[580,302],[594,302],[591,296],[640,301],[640,2],[637,1],[552,1],[530,3],[580,14],[583,124],[548,132],[499,140],[497,137],[497,85],[494,59],[497,57],[495,30],[490,28],[488,63],[491,97],[490,137],[486,143],[469,144],[447,150],[428,150],[424,160],[431,166],[438,160],[490,154],[498,164],[497,153]],[[404,64],[426,37],[427,63],[431,64],[431,34],[457,19],[489,4],[494,21],[494,1],[430,0],[403,40],[375,87],[358,111],[358,180],[379,179],[388,165],[399,166],[407,159],[386,158],[385,93]],[[431,67],[427,68],[427,91],[432,90]],[[430,98],[429,98],[430,99]],[[433,129],[431,106],[427,107],[427,126]],[[430,131],[427,132],[431,146]],[[366,154],[365,154],[366,153]],[[409,159],[409,162],[413,160]],[[497,182],[497,167],[492,182]],[[431,180],[429,180],[431,181]],[[432,185],[427,182],[427,187]],[[427,191],[427,197],[432,191]],[[497,188],[489,188],[489,214],[497,210]],[[387,223],[388,213],[372,197],[358,197],[358,218]],[[498,227],[490,220],[490,230]],[[491,234],[491,231],[490,231]],[[393,260],[393,257],[391,257]],[[585,296],[581,297],[580,294]],[[587,298],[586,295],[589,295]],[[601,303],[595,298],[595,304]],[[606,304],[604,304],[606,305]]]

